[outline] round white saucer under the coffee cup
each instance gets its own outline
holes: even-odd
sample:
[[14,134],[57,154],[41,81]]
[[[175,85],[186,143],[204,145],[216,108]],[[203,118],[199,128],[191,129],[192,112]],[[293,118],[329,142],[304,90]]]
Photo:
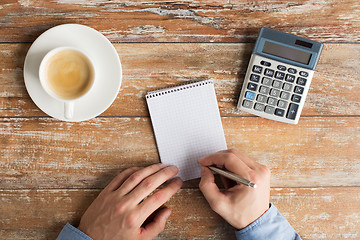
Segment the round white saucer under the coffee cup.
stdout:
[[[50,97],[41,87],[39,66],[47,52],[56,47],[75,47],[94,62],[96,80],[84,98],[75,102],[73,119],[65,119],[64,103]],[[31,45],[24,64],[26,89],[46,114],[63,121],[80,122],[103,113],[115,100],[121,85],[122,69],[114,46],[98,31],[79,24],[64,24],[41,34]]]

